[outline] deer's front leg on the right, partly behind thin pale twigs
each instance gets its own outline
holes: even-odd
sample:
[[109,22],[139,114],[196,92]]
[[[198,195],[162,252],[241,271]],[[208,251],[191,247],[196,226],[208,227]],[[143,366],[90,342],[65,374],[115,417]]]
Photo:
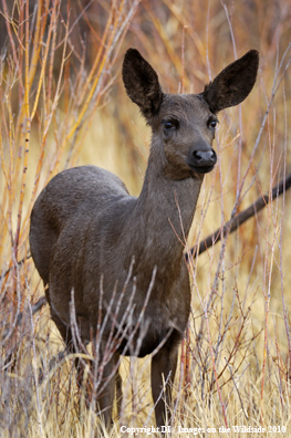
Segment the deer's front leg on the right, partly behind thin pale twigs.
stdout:
[[[157,427],[170,420],[172,385],[177,368],[178,345],[164,345],[152,358],[152,394]],[[166,384],[167,382],[167,384]],[[157,401],[158,400],[158,401]]]

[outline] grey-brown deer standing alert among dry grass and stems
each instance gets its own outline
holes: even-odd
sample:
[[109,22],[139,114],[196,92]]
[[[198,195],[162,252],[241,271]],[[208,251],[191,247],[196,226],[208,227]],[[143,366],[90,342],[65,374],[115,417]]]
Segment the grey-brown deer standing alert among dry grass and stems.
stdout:
[[[250,50],[222,70],[202,93],[165,94],[153,67],[137,50],[128,49],[123,63],[124,85],[152,128],[139,197],[129,196],[124,184],[110,171],[82,166],[56,175],[35,201],[31,253],[44,285],[49,284],[45,294],[52,319],[71,348],[72,289],[84,343],[90,342],[92,333],[97,335],[100,303],[104,320],[115,290],[110,314],[117,315],[115,334],[122,333],[121,325],[126,326],[126,333],[123,331],[123,341],[116,344],[104,367],[107,383],[97,396],[107,426],[114,400],[112,376],[121,354],[143,357],[155,350],[152,394],[157,426],[164,425],[168,415],[178,345],[190,311],[181,240],[188,236],[204,175],[217,161],[211,146],[217,113],[248,96],[258,63],[258,52]],[[154,284],[148,295],[150,280]],[[129,303],[131,324],[126,325],[123,315]],[[134,332],[141,312],[143,336],[142,326]],[[111,331],[112,317],[107,317],[100,340],[101,356]]]

